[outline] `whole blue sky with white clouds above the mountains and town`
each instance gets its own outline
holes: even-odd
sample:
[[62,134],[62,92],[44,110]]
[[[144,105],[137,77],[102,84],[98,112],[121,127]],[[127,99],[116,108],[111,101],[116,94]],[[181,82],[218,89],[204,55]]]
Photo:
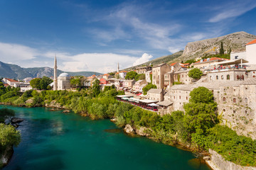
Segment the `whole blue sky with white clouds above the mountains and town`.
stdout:
[[256,1],[1,0],[0,61],[111,72],[183,50],[187,42],[256,35]]

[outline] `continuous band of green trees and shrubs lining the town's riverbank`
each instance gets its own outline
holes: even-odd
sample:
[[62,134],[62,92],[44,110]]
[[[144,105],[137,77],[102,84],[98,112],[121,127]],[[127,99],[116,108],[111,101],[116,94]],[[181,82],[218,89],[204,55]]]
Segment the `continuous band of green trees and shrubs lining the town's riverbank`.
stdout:
[[217,103],[213,94],[204,87],[191,91],[191,98],[184,111],[174,111],[160,116],[154,112],[122,103],[115,99],[113,86],[100,91],[99,82],[91,89],[81,91],[26,91],[6,89],[1,102],[21,106],[60,106],[92,119],[115,118],[119,127],[129,124],[133,128],[146,128],[152,140],[172,145],[178,142],[195,150],[214,149],[225,159],[243,166],[256,166],[256,142],[249,137],[238,136],[235,131],[219,125]]

